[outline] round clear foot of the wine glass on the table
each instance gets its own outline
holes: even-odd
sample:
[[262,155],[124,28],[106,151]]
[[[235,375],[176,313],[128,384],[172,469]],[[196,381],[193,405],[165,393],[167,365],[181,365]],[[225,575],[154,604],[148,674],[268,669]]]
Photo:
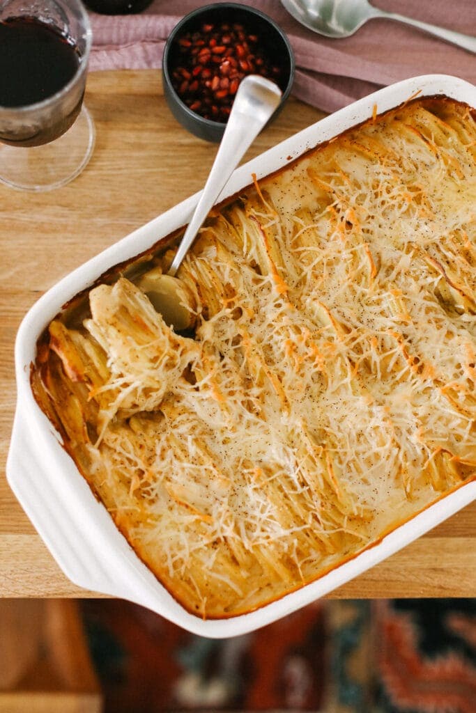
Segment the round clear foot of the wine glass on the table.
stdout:
[[96,131],[85,106],[66,133],[31,148],[0,144],[0,182],[18,190],[51,190],[76,178],[91,158]]

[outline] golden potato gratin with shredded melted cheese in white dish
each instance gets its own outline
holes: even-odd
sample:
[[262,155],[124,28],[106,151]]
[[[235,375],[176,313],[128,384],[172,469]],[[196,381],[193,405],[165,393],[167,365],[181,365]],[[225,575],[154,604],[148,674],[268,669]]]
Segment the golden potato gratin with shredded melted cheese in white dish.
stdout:
[[475,120],[414,101],[211,213],[193,338],[119,277],[36,396],[173,596],[238,615],[475,477],[475,257]]

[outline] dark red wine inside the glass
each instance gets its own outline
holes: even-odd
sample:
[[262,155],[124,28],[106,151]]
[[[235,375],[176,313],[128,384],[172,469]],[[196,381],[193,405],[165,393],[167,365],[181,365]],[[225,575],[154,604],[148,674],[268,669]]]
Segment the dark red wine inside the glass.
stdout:
[[[30,17],[0,22],[0,109],[30,106],[60,91],[75,76],[81,57],[68,36],[54,26]],[[82,95],[74,107],[61,106],[40,125],[5,130],[0,121],[0,141],[14,145],[39,145],[54,140],[74,122]],[[33,131],[33,133],[32,133]]]

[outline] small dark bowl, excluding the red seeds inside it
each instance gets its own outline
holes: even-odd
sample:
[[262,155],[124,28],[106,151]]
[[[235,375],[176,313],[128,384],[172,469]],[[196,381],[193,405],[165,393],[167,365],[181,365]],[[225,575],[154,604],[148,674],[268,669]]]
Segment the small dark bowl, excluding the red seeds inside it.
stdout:
[[226,122],[203,118],[196,111],[192,111],[178,95],[178,91],[174,87],[173,72],[183,62],[179,40],[183,39],[183,36],[188,33],[193,34],[201,31],[204,24],[216,26],[216,24],[222,23],[230,24],[231,26],[238,23],[243,25],[248,34],[257,36],[263,57],[269,61],[271,66],[276,66],[280,70],[276,78],[268,76],[278,84],[283,92],[280,104],[270,121],[283,108],[290,94],[294,79],[294,55],[289,40],[280,27],[275,24],[275,21],[267,15],[248,5],[229,2],[206,5],[193,10],[173,28],[166,42],[162,60],[163,93],[176,120],[198,138],[203,138],[207,141],[220,141],[226,128]]

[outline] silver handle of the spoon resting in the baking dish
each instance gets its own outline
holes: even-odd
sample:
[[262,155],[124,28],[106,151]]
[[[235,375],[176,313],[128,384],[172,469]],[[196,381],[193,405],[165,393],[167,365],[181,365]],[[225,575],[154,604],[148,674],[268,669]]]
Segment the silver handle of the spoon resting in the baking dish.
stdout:
[[240,82],[208,180],[178,246],[168,275],[176,275],[178,267],[180,267],[208,212],[240,159],[243,158],[245,151],[278,107],[280,98],[280,89],[268,79],[250,75]]

